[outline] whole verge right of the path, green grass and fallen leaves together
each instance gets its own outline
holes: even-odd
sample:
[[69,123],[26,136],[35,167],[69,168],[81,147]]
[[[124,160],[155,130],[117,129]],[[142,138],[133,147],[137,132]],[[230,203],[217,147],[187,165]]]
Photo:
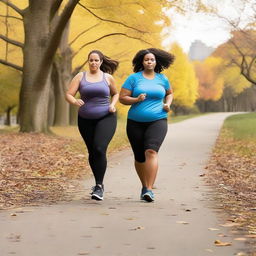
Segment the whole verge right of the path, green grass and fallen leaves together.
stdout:
[[229,117],[209,161],[206,180],[248,248],[256,245],[256,113]]

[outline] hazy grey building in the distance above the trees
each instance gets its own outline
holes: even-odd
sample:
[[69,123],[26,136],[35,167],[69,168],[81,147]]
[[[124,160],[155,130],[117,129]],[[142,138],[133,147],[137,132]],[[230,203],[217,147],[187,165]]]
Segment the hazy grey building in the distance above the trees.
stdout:
[[215,50],[213,47],[205,45],[200,40],[194,41],[189,48],[188,56],[190,60],[204,60]]

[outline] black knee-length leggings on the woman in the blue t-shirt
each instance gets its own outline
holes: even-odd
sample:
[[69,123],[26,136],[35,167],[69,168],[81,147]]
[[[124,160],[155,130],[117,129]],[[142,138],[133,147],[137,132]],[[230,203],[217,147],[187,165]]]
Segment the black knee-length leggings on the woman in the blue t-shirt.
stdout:
[[147,149],[159,151],[167,133],[167,119],[153,122],[136,122],[128,119],[126,132],[135,160],[143,163],[145,162],[145,151]]

